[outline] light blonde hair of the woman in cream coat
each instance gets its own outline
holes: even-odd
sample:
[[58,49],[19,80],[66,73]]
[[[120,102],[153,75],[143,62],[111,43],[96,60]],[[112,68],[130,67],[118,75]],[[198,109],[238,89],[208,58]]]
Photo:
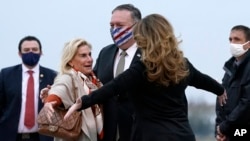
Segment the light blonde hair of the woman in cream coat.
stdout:
[[91,44],[81,38],[75,38],[65,43],[60,63],[60,74],[69,72],[69,70],[72,68],[72,66],[69,65],[69,62],[76,55],[78,48],[85,45],[92,49]]

